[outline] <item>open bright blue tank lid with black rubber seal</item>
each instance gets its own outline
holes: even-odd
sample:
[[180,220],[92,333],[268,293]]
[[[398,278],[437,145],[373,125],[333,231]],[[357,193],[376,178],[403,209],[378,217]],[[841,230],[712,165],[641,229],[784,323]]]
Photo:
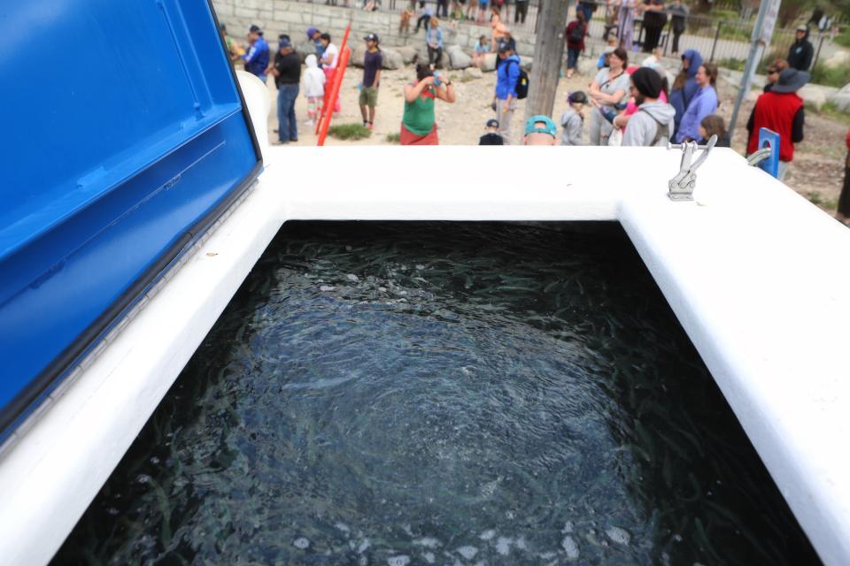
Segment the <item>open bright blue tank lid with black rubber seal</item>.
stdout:
[[261,169],[207,0],[0,3],[0,440]]

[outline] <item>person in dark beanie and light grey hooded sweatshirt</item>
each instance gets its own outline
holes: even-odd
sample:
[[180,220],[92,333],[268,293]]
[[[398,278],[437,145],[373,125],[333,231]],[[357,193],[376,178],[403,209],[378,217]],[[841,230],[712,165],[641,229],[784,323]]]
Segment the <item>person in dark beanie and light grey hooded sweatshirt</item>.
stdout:
[[673,135],[673,117],[676,110],[668,103],[658,100],[664,80],[649,67],[640,67],[631,75],[630,91],[638,104],[638,111],[631,115],[629,126],[622,134],[624,146],[666,146]]

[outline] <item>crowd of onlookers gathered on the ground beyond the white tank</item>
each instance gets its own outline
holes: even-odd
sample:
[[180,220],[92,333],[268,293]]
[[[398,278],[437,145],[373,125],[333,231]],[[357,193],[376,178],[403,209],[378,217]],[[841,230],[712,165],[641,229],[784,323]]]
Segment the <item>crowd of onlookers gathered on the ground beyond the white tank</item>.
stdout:
[[[630,0],[615,2],[621,8],[632,6]],[[490,38],[485,35],[479,37],[475,44],[473,64],[482,65],[483,57],[492,50],[497,52],[498,57],[496,86],[491,104],[494,118],[487,121],[486,133],[480,143],[510,145],[514,142],[511,134],[514,112],[517,101],[527,94],[528,75],[522,70],[522,59],[515,51],[514,39],[500,19],[506,4],[479,3],[479,8],[487,9],[486,4],[491,4],[492,33]],[[643,6],[640,10],[647,13],[661,13],[663,9],[662,0],[650,0],[640,5]],[[568,78],[576,72],[578,57],[584,50],[587,22],[593,6],[595,4],[577,4],[575,19],[569,21],[564,30]],[[684,4],[681,4],[681,0],[675,0],[673,8],[676,6],[684,7]],[[440,22],[436,12],[429,10],[429,6],[426,5],[424,11],[417,29],[421,24],[425,27],[429,57],[427,63],[416,66],[415,80],[404,88],[404,112],[399,132],[403,145],[437,144],[435,104],[437,100],[444,103],[456,100],[452,81],[438,70],[444,49]],[[687,8],[684,7],[681,13],[686,15]],[[664,18],[666,21],[666,15]],[[257,26],[251,26],[248,30],[247,49],[233,41],[224,27],[222,34],[232,61],[243,61],[245,69],[260,80],[265,81],[267,75],[274,77],[278,92],[277,143],[297,142],[295,103],[302,80],[307,99],[306,124],[313,125],[321,113],[325,88],[336,75],[340,51],[331,36],[314,27],[306,30],[307,40],[313,43],[315,54],[306,57],[302,77],[301,59],[288,35],[281,34],[278,37],[277,50],[274,57],[270,57],[263,31]],[[758,135],[762,127],[780,134],[780,179],[784,177],[787,164],[793,159],[794,144],[803,139],[805,111],[803,101],[796,93],[809,80],[804,70],[811,64],[811,43],[807,37],[808,28],[801,26],[797,32],[797,42],[789,50],[788,58],[769,65],[764,94],[755,103],[747,121],[747,153],[759,149]],[[372,129],[378,105],[383,54],[376,34],[367,34],[363,41],[366,43],[366,51],[359,84],[359,107],[363,126]],[[588,84],[587,91],[569,93],[568,111],[563,113],[558,124],[550,117],[535,116],[529,119],[524,127],[522,143],[537,145],[543,141],[546,145],[560,142],[561,145],[664,146],[668,142],[704,143],[716,135],[718,145],[728,147],[730,140],[726,126],[723,118],[717,114],[720,103],[716,91],[717,67],[704,62],[699,51],[685,50],[680,56],[681,67],[674,76],[664,67],[661,49],[658,48],[652,50],[640,65],[630,65],[629,42],[628,36],[618,38],[609,34],[608,47],[597,64],[599,71]],[[333,101],[333,111],[340,111],[338,96]],[[586,140],[585,120],[588,122]],[[846,200],[850,207],[850,196]]]

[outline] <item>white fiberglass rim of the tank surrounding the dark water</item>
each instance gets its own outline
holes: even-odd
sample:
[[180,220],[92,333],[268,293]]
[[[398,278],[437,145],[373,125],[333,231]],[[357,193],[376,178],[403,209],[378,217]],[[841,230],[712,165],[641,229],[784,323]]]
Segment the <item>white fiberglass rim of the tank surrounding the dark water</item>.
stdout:
[[850,563],[850,232],[715,149],[267,146],[267,170],[180,271],[0,455],[2,562],[48,562],[285,219],[620,220],[827,564]]

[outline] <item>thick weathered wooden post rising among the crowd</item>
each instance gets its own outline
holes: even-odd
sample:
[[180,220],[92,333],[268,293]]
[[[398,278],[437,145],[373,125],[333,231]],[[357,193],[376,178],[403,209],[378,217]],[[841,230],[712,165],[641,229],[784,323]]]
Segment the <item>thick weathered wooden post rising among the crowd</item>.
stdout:
[[567,27],[569,0],[545,0],[537,19],[537,42],[534,65],[529,77],[529,98],[525,103],[525,119],[537,114],[552,116],[555,90],[558,88],[561,61],[564,57],[564,29]]

